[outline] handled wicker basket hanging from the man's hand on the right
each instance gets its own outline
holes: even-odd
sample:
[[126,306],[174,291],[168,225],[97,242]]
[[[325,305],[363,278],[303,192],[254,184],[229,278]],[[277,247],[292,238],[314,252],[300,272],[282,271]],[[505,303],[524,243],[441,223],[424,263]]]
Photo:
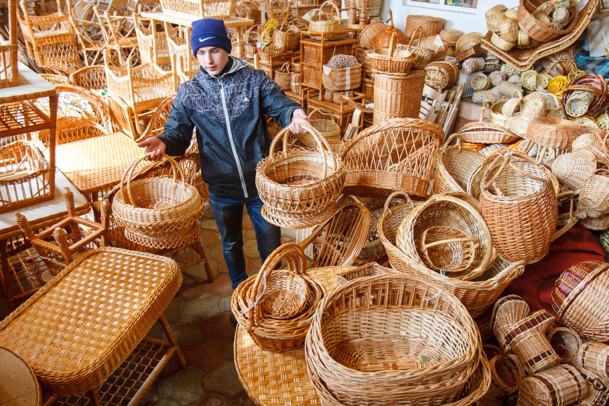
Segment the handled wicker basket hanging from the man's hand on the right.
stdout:
[[[334,155],[315,128],[306,124],[301,127],[313,136],[317,150],[288,149],[290,131],[286,127],[273,139],[272,154],[256,167],[256,187],[264,202],[262,214],[271,209],[273,218],[267,220],[274,223],[281,215],[286,219],[310,215],[321,223],[333,214],[326,209],[342,193],[345,181],[342,160]],[[275,152],[280,141],[283,150]]]

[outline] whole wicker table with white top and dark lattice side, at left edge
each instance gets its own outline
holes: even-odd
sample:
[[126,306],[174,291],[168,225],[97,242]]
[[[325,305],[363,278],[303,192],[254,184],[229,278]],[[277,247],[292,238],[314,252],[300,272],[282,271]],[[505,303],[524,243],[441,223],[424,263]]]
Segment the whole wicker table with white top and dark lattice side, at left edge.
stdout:
[[[0,257],[2,258],[0,287],[2,287],[4,296],[9,303],[9,310],[15,308],[16,301],[26,299],[43,285],[38,275],[40,271],[38,264],[41,263],[41,260],[37,261],[35,250],[28,252],[16,247],[13,247],[12,250],[8,249],[9,245],[23,245],[23,243],[11,243],[12,239],[22,235],[21,229],[15,223],[15,214],[17,212],[24,214],[35,229],[53,225],[57,220],[68,215],[66,203],[62,197],[62,191],[65,187],[69,187],[74,194],[74,207],[77,214],[82,215],[88,212],[90,206],[85,197],[69,183],[62,172],[55,170],[55,197],[53,200],[42,201],[35,205],[0,214]],[[17,254],[18,251],[21,251],[21,253]],[[15,254],[17,254],[15,256],[16,264],[13,264],[13,261],[9,263],[9,257]]]

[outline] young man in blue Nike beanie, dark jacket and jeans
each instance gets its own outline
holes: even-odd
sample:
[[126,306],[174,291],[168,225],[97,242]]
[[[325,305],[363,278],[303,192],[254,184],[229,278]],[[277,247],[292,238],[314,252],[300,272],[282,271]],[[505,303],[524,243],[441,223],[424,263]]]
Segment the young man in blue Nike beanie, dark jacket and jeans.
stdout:
[[138,144],[158,160],[183,155],[192,130],[203,180],[222,237],[222,253],[233,289],[247,279],[243,254],[243,206],[252,219],[261,261],[280,245],[281,230],[261,215],[256,190],[256,164],[269,155],[270,135],[265,114],[294,133],[297,122],[309,124],[305,110],[290,100],[264,72],[231,57],[224,22],[204,18],[192,23],[191,48],[201,68],[180,85],[164,125],[164,133]]

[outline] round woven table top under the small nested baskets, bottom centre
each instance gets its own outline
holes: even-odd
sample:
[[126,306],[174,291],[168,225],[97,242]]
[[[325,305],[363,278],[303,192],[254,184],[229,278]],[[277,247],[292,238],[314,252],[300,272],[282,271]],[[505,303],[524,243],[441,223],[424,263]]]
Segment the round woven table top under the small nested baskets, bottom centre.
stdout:
[[[334,289],[336,275],[354,267],[326,267],[309,270],[309,276]],[[260,349],[245,327],[237,327],[234,337],[235,365],[239,380],[253,402],[264,406],[319,405],[319,397],[306,371],[305,348],[287,352]]]

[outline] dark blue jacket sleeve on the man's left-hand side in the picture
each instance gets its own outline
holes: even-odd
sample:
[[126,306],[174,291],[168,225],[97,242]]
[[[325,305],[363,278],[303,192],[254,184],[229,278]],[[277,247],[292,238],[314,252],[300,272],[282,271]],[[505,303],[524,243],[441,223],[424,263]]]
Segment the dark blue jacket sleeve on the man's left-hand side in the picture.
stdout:
[[182,102],[186,97],[186,88],[180,86],[174,103],[171,105],[171,110],[169,110],[167,122],[163,126],[163,134],[158,135],[158,138],[167,145],[165,152],[167,155],[184,155],[191,144],[194,123]]

